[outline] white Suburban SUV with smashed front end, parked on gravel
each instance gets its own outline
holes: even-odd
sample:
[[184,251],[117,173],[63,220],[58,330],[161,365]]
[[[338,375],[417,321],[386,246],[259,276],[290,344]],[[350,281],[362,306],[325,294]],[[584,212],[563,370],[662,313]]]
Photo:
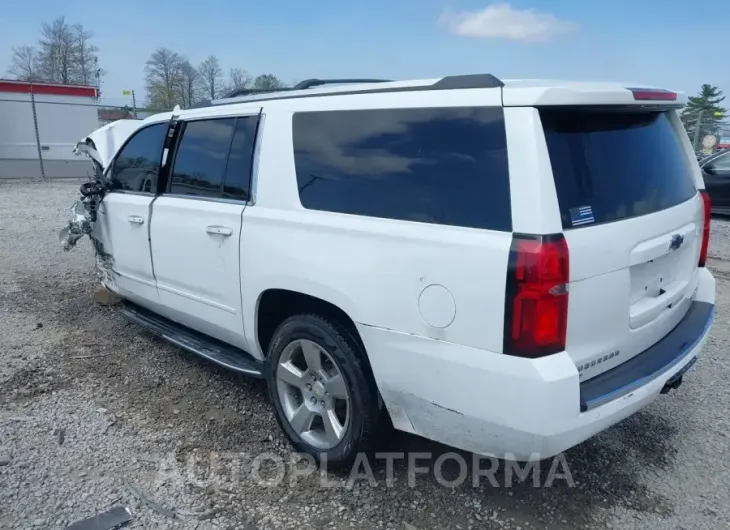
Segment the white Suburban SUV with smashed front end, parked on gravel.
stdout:
[[263,377],[300,451],[344,465],[392,422],[547,458],[676,388],[707,337],[683,103],[491,75],[226,98],[140,122],[69,237],[127,316]]

